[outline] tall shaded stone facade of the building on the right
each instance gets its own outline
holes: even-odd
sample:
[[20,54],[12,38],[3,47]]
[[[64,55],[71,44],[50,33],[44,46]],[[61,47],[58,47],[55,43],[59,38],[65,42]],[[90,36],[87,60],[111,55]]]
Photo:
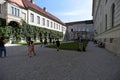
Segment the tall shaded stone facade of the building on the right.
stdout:
[[120,0],[93,0],[95,39],[120,55]]

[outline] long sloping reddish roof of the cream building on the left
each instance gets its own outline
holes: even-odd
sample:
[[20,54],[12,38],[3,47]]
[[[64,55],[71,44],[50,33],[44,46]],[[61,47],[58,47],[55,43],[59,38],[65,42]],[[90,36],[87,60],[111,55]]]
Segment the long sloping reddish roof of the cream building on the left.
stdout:
[[32,9],[33,11],[37,12],[37,13],[41,13],[43,14],[44,16],[60,23],[60,24],[63,24],[65,25],[60,19],[58,19],[57,17],[53,16],[52,14],[50,14],[49,12],[45,11],[44,9],[40,8],[39,6],[31,3],[30,1],[28,0],[9,0],[11,2],[14,2],[16,4],[18,4],[19,6],[21,7],[24,7],[26,9]]

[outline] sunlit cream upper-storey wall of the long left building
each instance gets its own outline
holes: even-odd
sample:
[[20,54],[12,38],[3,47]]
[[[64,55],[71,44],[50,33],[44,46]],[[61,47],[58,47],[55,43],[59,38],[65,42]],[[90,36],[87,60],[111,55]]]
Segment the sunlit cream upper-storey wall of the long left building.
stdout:
[[[49,17],[44,16],[40,12],[37,13],[34,10],[25,9],[24,7],[20,7],[16,3],[12,3],[12,2],[6,2],[1,5],[2,5],[2,10],[1,10],[2,13],[0,13],[0,18],[6,19],[7,24],[10,21],[16,21],[21,23],[21,19],[24,19],[30,25],[35,25],[38,27],[63,32],[63,35],[65,35],[66,26],[63,25],[63,23],[59,23],[54,19],[50,19]],[[12,7],[19,10],[19,16],[13,15]],[[34,22],[31,22],[31,13],[34,15]],[[40,17],[40,24],[38,24],[37,16]],[[43,25],[43,18],[45,19],[45,25]],[[48,21],[49,21],[49,25],[48,25]]]

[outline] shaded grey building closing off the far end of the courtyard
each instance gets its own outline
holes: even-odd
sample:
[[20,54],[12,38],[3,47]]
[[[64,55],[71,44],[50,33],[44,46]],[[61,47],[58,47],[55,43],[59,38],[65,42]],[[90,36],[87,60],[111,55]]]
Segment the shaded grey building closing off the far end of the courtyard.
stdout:
[[93,20],[68,22],[66,23],[66,26],[66,40],[92,40],[94,38]]

